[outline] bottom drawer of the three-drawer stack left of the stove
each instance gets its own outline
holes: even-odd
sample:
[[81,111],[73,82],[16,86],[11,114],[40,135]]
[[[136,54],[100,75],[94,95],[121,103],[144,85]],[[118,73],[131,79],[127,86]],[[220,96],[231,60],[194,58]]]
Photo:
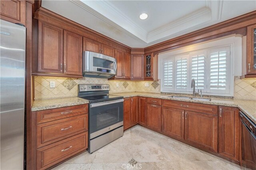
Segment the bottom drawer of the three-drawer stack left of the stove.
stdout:
[[46,169],[88,148],[88,132],[37,149],[37,168]]

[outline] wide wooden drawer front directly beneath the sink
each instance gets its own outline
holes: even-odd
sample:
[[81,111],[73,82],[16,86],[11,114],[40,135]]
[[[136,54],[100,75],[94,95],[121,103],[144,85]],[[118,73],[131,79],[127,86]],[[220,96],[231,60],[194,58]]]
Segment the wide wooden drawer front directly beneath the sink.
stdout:
[[162,106],[218,115],[218,106],[209,104],[199,104],[192,102],[180,102],[174,100],[162,100]]

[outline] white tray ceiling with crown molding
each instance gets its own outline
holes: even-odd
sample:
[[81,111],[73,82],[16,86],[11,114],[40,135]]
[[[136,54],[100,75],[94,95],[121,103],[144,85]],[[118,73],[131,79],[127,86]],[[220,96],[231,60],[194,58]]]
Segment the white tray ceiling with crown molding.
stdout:
[[[42,0],[42,7],[144,48],[256,10],[255,0]],[[148,14],[140,20],[142,13]]]

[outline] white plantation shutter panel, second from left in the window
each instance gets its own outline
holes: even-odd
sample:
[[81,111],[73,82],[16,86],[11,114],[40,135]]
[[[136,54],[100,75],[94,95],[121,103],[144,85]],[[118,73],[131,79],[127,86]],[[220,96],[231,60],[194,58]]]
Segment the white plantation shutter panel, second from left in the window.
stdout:
[[187,91],[188,88],[188,55],[175,57],[176,90]]

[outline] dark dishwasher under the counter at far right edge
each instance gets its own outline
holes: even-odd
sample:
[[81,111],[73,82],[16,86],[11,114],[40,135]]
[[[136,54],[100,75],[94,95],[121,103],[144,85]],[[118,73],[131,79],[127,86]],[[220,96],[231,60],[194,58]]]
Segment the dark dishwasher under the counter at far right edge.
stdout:
[[242,111],[241,121],[241,143],[242,143],[242,164],[247,168],[256,170],[256,125]]

